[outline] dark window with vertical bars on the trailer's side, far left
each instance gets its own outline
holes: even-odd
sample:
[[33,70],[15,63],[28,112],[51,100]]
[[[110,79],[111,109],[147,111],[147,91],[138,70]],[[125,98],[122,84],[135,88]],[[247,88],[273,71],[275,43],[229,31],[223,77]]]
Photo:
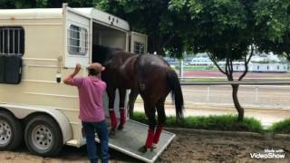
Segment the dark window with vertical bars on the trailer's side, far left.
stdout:
[[24,54],[24,28],[19,26],[0,27],[0,54]]

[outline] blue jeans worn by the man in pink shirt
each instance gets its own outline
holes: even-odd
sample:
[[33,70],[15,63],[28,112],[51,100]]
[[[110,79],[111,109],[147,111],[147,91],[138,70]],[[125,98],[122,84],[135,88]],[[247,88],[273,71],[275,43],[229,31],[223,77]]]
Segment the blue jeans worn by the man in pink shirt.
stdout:
[[97,147],[95,144],[95,135],[96,132],[100,139],[101,150],[102,150],[102,163],[109,162],[109,131],[105,120],[101,122],[84,122],[82,121],[82,128],[85,132],[85,137],[87,139],[87,152],[88,158],[91,160],[91,163],[97,163]]

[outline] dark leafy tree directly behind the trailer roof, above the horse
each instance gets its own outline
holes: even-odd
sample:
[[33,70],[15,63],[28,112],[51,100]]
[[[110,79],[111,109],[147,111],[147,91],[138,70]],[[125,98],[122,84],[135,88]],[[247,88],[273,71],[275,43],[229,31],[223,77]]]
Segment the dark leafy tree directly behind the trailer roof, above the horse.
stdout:
[[94,5],[116,14],[131,24],[131,30],[148,34],[148,51],[164,54],[164,50],[180,57],[183,40],[180,37],[179,23],[169,7],[169,0],[94,0]]

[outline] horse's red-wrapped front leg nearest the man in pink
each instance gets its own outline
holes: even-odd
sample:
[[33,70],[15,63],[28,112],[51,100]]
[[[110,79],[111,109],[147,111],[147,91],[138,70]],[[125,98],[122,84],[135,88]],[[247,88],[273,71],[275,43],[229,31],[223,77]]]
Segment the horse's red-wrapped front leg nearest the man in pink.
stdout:
[[109,97],[109,114],[111,119],[111,130],[110,130],[110,137],[116,134],[116,127],[117,127],[117,118],[114,110],[114,101],[115,101],[115,91],[116,89],[108,86],[107,93]]

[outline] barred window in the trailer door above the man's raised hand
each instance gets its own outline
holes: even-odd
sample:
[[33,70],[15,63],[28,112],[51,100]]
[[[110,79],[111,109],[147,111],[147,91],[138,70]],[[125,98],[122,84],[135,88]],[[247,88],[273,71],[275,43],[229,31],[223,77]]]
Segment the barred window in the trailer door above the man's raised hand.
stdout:
[[84,55],[88,50],[88,32],[85,28],[71,25],[69,29],[69,53]]

